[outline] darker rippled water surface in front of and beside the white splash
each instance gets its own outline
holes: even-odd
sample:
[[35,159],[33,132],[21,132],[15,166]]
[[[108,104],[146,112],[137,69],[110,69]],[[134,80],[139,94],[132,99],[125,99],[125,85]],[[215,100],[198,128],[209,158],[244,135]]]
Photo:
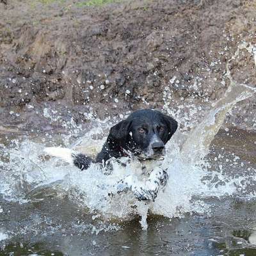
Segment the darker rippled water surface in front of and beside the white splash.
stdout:
[[[37,202],[26,202],[23,196],[4,199],[2,195],[1,255],[255,255],[256,200],[251,179],[256,167],[255,141],[252,132],[220,131],[207,157],[208,168],[214,171],[205,170],[203,179],[198,180],[198,184],[206,180],[212,189],[192,195],[195,208],[188,211],[185,205],[182,210],[181,204],[176,218],[150,214],[147,230],[141,229],[139,216],[130,221],[100,220],[97,212],[90,213],[77,204],[77,198],[72,200],[63,193],[61,182],[41,190]],[[237,177],[243,177],[241,182],[236,183]],[[184,180],[189,184],[190,178]],[[237,188],[233,194],[231,183]],[[29,186],[24,183],[13,189],[25,195]],[[180,188],[173,190],[182,196]],[[220,191],[220,195],[208,195],[209,191]],[[172,205],[172,201],[165,204]]]

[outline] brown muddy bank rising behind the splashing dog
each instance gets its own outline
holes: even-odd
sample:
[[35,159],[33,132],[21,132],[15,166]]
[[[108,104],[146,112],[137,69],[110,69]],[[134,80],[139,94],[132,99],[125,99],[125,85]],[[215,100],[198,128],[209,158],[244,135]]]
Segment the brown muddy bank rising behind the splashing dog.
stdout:
[[[148,107],[187,129],[227,89],[228,60],[232,79],[255,87],[255,2],[108,2],[0,2],[0,129]],[[255,113],[251,97],[226,125],[256,129]]]

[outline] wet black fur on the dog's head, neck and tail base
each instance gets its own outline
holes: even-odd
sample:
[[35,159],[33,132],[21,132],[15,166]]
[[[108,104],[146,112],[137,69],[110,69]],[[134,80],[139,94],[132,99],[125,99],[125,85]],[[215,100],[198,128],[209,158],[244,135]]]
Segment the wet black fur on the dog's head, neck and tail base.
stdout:
[[[148,127],[148,132],[141,136],[138,127],[143,125]],[[158,131],[159,125],[165,127],[164,132]],[[125,152],[131,152],[132,155],[136,156],[148,147],[154,134],[165,145],[177,130],[177,126],[177,122],[172,117],[159,111],[152,109],[135,111],[127,119],[111,127],[106,143],[95,160],[78,154],[74,157],[74,164],[81,170],[85,170],[90,166],[90,163],[105,164],[111,157],[127,156]]]

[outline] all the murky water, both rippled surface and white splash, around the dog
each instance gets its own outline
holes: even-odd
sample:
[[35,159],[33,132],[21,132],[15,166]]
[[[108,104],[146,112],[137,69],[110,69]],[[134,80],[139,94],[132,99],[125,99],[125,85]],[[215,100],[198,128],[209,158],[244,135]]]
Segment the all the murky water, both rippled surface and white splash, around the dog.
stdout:
[[254,92],[231,83],[193,131],[176,132],[162,163],[170,179],[156,202],[108,196],[140,170],[136,161],[125,168],[113,161],[104,175],[97,164],[80,172],[43,153],[65,145],[93,155],[107,123],[92,122],[78,138],[3,134],[0,255],[256,255],[256,136],[219,131],[226,113]]

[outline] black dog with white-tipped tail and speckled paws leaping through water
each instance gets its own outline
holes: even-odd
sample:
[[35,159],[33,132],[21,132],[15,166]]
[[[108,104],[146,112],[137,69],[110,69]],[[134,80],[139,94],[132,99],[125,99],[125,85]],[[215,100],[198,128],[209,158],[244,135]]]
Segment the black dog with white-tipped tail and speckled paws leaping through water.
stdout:
[[[138,157],[141,160],[159,159],[165,154],[164,145],[177,130],[177,122],[170,116],[152,110],[142,109],[135,111],[115,126],[111,127],[108,138],[102,150],[93,160],[84,154],[72,153],[65,148],[46,148],[52,156],[58,156],[73,163],[81,170],[89,168],[92,163],[106,164],[111,157]],[[150,174],[148,188],[137,180],[126,177],[118,184],[118,191],[131,189],[140,200],[156,198],[160,184],[165,184],[168,175],[164,170],[156,170]],[[138,189],[138,187],[140,187]]]

